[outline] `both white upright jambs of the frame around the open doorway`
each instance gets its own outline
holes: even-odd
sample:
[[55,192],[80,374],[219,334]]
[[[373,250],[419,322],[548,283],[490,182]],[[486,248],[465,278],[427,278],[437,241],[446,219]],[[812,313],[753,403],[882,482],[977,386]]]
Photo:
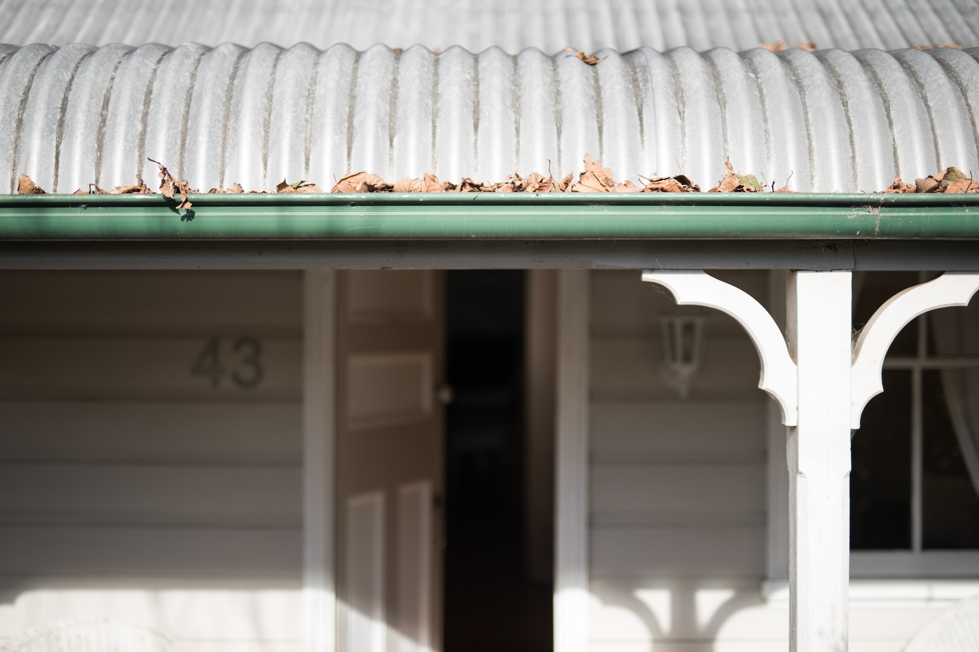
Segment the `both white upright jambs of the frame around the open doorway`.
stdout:
[[[557,272],[554,649],[583,652],[588,610],[586,269]],[[303,650],[337,649],[337,272],[303,270]]]

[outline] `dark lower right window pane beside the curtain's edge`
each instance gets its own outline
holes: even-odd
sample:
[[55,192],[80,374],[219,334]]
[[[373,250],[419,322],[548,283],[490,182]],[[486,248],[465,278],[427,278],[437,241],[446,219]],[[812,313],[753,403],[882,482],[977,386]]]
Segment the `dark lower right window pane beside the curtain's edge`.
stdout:
[[[962,372],[950,372],[962,373]],[[979,548],[979,496],[958,449],[942,372],[922,375],[922,538],[925,548]]]

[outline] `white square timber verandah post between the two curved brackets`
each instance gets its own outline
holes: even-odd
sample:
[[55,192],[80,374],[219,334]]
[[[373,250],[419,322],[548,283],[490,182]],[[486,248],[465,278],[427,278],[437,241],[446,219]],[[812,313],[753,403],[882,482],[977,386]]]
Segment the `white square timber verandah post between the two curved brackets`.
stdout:
[[850,580],[849,271],[797,271],[786,288],[798,369],[789,428],[789,649],[845,652]]

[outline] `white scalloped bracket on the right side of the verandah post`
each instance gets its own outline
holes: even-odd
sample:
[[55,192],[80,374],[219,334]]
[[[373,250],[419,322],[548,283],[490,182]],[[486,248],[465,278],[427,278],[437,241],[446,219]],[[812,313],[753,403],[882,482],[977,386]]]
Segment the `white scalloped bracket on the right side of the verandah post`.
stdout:
[[929,310],[950,305],[967,305],[979,290],[979,273],[946,272],[891,297],[877,308],[854,346],[850,375],[850,427],[860,428],[860,417],[868,400],[884,391],[881,369],[884,355],[894,338],[909,321]]

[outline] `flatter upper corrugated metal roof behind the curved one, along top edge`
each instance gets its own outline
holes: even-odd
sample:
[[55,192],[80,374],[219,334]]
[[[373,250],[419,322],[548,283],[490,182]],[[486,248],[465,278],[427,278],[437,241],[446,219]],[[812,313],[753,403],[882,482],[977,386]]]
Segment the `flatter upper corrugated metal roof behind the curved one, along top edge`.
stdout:
[[0,42],[733,50],[979,46],[977,0],[2,0]]

